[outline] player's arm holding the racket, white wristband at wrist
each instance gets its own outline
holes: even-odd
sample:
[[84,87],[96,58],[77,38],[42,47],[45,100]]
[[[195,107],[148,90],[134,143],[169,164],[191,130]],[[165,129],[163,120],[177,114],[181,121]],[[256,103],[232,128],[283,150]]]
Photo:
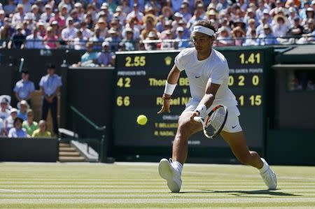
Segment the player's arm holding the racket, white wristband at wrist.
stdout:
[[214,103],[214,99],[216,99],[216,92],[218,92],[218,88],[220,87],[220,84],[216,84],[213,82],[208,82],[207,87],[205,90],[204,97],[202,97],[202,100],[199,103],[198,107],[204,107],[204,110],[198,110],[198,108],[193,112],[193,114],[190,116],[190,120],[194,121],[195,116],[204,117],[204,115],[200,115],[200,112],[205,112],[207,109],[209,109]]

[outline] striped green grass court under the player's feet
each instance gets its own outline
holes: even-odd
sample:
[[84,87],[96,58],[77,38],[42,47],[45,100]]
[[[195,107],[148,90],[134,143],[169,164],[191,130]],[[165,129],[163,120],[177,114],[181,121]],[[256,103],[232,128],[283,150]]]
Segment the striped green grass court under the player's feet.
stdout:
[[0,208],[315,208],[315,167],[272,168],[269,192],[254,168],[186,164],[173,194],[158,164],[0,163]]

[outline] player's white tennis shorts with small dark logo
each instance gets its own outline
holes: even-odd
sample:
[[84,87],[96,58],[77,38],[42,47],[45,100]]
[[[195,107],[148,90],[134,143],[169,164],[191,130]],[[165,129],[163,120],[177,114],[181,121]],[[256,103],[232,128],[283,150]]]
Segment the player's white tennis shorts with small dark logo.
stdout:
[[[200,100],[191,99],[190,102],[186,104],[186,109],[183,110],[183,113],[187,111],[194,111],[199,105],[199,103],[200,103]],[[210,113],[212,108],[214,108],[214,106],[211,106],[209,108],[208,113]],[[237,106],[228,107],[228,118],[222,130],[228,133],[236,133],[236,132],[242,131],[241,124],[239,124],[239,115],[241,114],[239,113],[239,109],[237,108]]]

